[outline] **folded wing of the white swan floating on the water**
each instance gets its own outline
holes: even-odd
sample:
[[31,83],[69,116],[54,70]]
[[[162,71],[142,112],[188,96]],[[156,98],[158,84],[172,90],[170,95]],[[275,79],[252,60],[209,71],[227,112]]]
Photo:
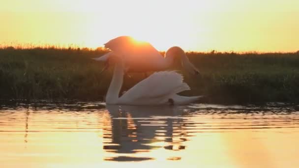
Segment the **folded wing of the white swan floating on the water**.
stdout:
[[150,101],[152,99],[165,101],[174,94],[189,89],[188,84],[183,83],[181,74],[175,71],[161,71],[134,85],[120,99],[123,101]]

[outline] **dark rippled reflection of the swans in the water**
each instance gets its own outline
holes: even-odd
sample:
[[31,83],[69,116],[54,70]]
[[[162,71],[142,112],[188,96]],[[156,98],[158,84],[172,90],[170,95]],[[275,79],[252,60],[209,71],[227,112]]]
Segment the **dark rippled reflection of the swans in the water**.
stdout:
[[[181,107],[116,106],[107,105],[111,127],[104,129],[104,149],[114,153],[149,152],[151,149],[183,150],[186,139],[183,121],[187,112]],[[134,157],[106,160],[133,161]],[[139,158],[148,160],[153,158]]]

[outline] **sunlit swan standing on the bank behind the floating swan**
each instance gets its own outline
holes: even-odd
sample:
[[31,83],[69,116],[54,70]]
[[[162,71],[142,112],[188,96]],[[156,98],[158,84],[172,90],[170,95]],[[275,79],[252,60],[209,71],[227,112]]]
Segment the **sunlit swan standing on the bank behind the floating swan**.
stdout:
[[175,46],[169,48],[162,56],[150,43],[137,41],[130,36],[119,36],[104,44],[106,49],[111,50],[104,56],[93,58],[98,61],[106,61],[103,70],[107,69],[108,59],[113,56],[123,56],[125,72],[148,72],[162,71],[169,68],[180,57],[181,64],[191,74],[200,74],[199,70],[189,61],[185,52]]

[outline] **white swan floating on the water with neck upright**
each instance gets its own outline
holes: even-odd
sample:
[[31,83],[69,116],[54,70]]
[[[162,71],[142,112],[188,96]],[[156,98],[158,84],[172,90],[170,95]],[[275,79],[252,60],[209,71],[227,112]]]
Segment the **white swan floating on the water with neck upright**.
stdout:
[[183,83],[183,77],[175,71],[155,72],[119,97],[124,68],[123,59],[116,59],[106,94],[108,105],[187,105],[202,97],[178,95],[179,92],[190,90],[190,87]]

